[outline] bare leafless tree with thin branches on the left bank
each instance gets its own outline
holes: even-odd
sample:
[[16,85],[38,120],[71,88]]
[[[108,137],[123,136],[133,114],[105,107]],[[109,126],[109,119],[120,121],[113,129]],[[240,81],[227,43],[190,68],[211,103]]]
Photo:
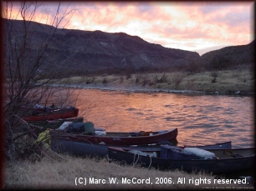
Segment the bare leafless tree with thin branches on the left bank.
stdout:
[[[65,59],[56,56],[58,42],[64,38],[59,28],[64,28],[75,10],[69,6],[61,10],[60,3],[52,5],[55,8],[54,14],[46,9],[44,3],[2,3],[3,148],[8,159],[24,158],[26,153],[31,153],[31,149],[28,151],[28,138],[23,136],[31,129],[20,128],[23,122],[18,117],[21,107],[33,106],[35,103],[51,104],[49,99],[58,92],[59,95],[65,93],[70,97],[67,88],[52,88],[49,83],[56,83],[60,77],[63,78],[67,68],[79,57],[75,51]],[[47,25],[38,24],[40,22]],[[67,103],[67,98],[58,100],[61,100],[59,104],[62,106]]]

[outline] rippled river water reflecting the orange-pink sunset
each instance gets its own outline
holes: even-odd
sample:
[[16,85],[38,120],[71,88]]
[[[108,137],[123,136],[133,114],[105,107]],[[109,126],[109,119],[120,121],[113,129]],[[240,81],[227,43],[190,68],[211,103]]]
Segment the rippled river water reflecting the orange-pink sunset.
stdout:
[[177,145],[254,146],[254,97],[76,89],[79,116],[106,131],[178,128]]

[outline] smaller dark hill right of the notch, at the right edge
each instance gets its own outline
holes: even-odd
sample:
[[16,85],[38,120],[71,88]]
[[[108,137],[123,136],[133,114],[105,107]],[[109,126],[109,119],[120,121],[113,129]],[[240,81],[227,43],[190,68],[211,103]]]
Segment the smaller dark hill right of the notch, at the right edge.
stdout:
[[199,63],[207,69],[238,68],[254,64],[255,40],[247,45],[231,46],[202,54]]

